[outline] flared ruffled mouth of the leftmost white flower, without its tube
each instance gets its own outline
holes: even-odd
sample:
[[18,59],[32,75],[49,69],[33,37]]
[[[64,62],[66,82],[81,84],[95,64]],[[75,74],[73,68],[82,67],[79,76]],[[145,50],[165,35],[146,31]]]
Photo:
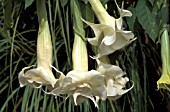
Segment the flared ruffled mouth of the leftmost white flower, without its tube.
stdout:
[[[32,66],[30,66],[32,67]],[[56,79],[54,78],[52,71],[45,69],[43,67],[38,67],[36,69],[28,70],[26,73],[25,70],[29,69],[30,67],[25,67],[19,73],[19,83],[20,86],[23,87],[27,84],[30,86],[36,87],[36,85],[51,85],[54,87],[56,83]]]

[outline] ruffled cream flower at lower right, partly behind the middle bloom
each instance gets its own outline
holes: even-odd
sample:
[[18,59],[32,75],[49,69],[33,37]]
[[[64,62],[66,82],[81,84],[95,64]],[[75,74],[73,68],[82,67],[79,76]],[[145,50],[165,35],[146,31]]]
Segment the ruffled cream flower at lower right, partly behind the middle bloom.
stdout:
[[123,77],[125,73],[120,67],[105,64],[98,59],[96,59],[96,61],[98,63],[97,71],[105,77],[108,99],[116,100],[133,88],[132,85],[129,89],[125,89],[125,85],[129,79],[127,77]]

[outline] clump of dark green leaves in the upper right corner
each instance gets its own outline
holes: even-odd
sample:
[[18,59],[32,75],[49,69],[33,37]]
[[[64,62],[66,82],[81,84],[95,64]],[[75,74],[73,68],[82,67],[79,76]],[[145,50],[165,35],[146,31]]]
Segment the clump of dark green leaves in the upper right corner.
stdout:
[[136,18],[152,41],[159,40],[162,28],[166,26],[168,10],[166,2],[155,0],[139,0],[136,7],[130,6],[132,17],[128,17],[127,24],[129,29],[135,31]]

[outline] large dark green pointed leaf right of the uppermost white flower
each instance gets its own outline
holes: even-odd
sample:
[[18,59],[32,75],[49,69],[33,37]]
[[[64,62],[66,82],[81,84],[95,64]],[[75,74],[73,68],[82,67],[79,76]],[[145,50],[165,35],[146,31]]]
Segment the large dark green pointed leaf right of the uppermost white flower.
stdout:
[[159,33],[157,15],[149,10],[144,0],[139,0],[136,6],[136,16],[149,37],[155,41]]

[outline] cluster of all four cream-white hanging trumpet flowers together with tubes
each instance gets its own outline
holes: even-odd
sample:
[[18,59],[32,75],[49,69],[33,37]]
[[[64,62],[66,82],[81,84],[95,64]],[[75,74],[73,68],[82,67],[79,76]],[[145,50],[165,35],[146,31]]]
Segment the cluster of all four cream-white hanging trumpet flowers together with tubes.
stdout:
[[[87,70],[88,60],[83,58],[87,58],[86,46],[82,45],[83,41],[79,40],[80,37],[78,37],[79,39],[75,37],[76,45],[73,46],[73,70],[64,75],[52,67],[52,44],[49,26],[48,22],[42,22],[37,42],[38,67],[26,72],[25,70],[30,67],[22,69],[18,76],[21,87],[30,85],[40,88],[45,85],[52,88],[49,92],[46,92],[47,94],[54,96],[67,94],[68,97],[73,98],[76,105],[91,99],[96,107],[98,107],[99,99],[116,100],[132,89],[133,86],[129,89],[125,88],[129,79],[123,77],[125,73],[119,66],[104,63],[100,60],[100,58],[121,49],[135,39],[131,31],[124,31],[122,27],[122,17],[131,16],[132,14],[124,10],[123,6],[120,9],[117,5],[120,17],[115,19],[105,11],[100,0],[89,0],[89,2],[100,22],[100,24],[94,24],[83,20],[95,33],[95,37],[88,38],[88,41],[92,45],[98,46],[98,54],[94,57],[98,64],[97,69]],[[97,8],[100,10],[97,10]],[[84,53],[81,53],[82,51]],[[81,64],[86,67],[83,68],[84,65]],[[60,73],[58,79],[54,77],[52,68]]]

